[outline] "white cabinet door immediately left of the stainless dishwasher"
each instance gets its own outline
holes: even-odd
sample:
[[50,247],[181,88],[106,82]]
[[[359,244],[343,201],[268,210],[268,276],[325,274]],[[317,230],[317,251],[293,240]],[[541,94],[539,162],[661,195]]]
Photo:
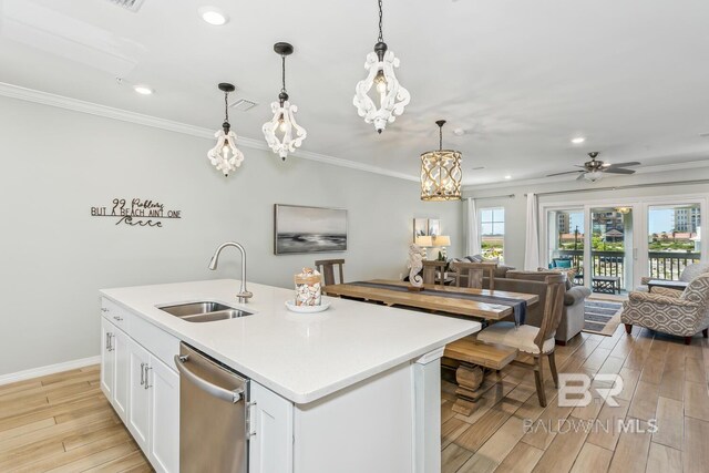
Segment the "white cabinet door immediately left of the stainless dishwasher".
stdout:
[[179,471],[179,374],[155,357],[148,369],[151,446],[148,457],[157,471]]

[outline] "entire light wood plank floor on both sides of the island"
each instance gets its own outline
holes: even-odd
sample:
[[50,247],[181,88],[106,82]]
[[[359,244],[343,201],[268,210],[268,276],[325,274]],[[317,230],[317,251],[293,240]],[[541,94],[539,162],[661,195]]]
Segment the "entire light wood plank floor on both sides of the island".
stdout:
[[[557,347],[559,372],[619,373],[618,408],[559,408],[546,373],[548,407],[534,374],[507,367],[490,377],[470,417],[455,414],[443,383],[443,472],[706,472],[709,469],[709,342],[624,327],[613,337],[582,333]],[[656,418],[651,433],[525,433],[525,420],[555,426]],[[564,424],[564,425],[569,425]],[[142,472],[151,467],[99,388],[99,367],[0,385],[0,471]]]

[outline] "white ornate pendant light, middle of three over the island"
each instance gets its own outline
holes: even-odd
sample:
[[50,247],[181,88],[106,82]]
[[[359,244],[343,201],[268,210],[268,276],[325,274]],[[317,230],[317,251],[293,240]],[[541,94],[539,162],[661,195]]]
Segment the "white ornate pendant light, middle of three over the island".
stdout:
[[[282,88],[278,94],[278,101],[270,104],[274,117],[264,123],[263,131],[268,146],[277,153],[282,161],[286,161],[288,153],[296,151],[307,136],[306,130],[296,123],[295,113],[298,107],[288,102],[286,92],[286,56],[292,54],[292,45],[288,43],[274,44],[274,51],[280,55],[282,61]],[[295,132],[295,137],[294,137]]]

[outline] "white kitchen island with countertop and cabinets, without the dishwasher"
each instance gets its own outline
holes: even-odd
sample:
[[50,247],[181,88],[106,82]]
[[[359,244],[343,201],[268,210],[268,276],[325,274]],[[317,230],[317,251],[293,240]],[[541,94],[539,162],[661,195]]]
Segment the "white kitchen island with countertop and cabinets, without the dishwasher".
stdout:
[[[102,389],[156,470],[179,466],[182,341],[250,380],[249,472],[440,471],[440,358],[480,323],[327,297],[327,311],[294,313],[292,290],[251,284],[239,305],[238,287],[101,291]],[[158,308],[204,300],[253,315],[195,323]]]

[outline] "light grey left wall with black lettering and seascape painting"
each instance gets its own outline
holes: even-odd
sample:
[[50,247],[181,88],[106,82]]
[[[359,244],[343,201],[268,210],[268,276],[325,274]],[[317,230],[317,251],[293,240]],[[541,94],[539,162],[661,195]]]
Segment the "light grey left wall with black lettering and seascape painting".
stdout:
[[[0,376],[99,354],[100,288],[238,277],[232,249],[207,270],[226,240],[246,247],[249,280],[282,287],[325,257],[343,257],[348,280],[398,277],[413,217],[441,218],[460,253],[460,203],[422,203],[414,182],[250,148],[225,178],[210,141],[7,97],[0,130]],[[132,228],[91,217],[114,197],[183,218]],[[276,203],[347,208],[349,250],[275,256]]]

